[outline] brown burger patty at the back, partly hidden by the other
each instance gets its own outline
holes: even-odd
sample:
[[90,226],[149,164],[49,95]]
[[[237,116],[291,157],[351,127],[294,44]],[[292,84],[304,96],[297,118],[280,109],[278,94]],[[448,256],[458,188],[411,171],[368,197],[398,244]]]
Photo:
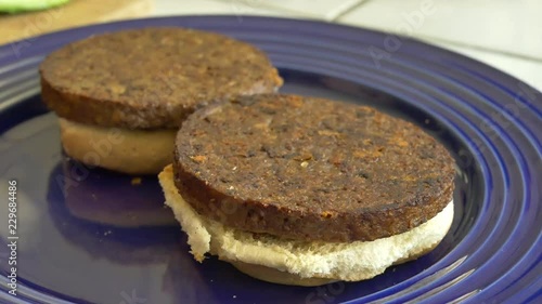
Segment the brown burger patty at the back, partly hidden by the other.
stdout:
[[282,84],[260,50],[218,34],[144,28],[93,36],[40,66],[42,98],[89,124],[175,128],[197,107]]

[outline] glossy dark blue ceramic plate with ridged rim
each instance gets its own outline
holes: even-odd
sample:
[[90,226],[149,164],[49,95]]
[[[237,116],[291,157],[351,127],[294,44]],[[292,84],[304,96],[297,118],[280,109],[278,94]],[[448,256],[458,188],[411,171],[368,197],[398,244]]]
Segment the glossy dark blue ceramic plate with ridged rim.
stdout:
[[[223,32],[263,49],[282,92],[369,104],[439,138],[457,163],[453,226],[431,253],[362,282],[287,287],[227,263],[196,263],[141,181],[61,151],[39,96],[49,52],[94,34],[147,26]],[[393,43],[390,41],[393,40]],[[425,43],[318,22],[186,16],[55,32],[0,48],[1,292],[14,303],[541,303],[542,94],[499,70]],[[99,149],[107,144],[96,143]],[[16,181],[17,226],[8,228]],[[12,227],[13,228],[13,227]],[[16,236],[18,239],[9,239]],[[17,296],[8,294],[16,240]]]

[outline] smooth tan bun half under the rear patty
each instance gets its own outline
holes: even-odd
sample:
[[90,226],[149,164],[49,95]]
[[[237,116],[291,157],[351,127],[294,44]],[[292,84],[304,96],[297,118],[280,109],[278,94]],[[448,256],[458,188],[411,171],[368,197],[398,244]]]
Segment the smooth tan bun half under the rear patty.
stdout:
[[157,174],[173,158],[177,130],[129,130],[60,118],[66,154],[91,167],[128,174]]

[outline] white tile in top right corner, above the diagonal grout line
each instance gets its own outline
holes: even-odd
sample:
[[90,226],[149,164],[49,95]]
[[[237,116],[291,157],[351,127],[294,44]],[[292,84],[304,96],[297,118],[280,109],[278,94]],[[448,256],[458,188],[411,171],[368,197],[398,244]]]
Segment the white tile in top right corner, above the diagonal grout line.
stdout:
[[540,0],[373,0],[339,22],[542,60]]

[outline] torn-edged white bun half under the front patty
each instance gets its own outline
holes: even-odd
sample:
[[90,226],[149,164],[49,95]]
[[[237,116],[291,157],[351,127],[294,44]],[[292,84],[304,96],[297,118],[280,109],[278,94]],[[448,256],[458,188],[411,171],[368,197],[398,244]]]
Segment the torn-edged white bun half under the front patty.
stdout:
[[191,252],[197,261],[210,253],[247,275],[285,285],[318,286],[372,278],[395,263],[433,250],[453,220],[452,201],[428,222],[388,238],[350,243],[287,240],[242,232],[201,216],[179,195],[171,166],[158,179],[166,204],[189,236]]

